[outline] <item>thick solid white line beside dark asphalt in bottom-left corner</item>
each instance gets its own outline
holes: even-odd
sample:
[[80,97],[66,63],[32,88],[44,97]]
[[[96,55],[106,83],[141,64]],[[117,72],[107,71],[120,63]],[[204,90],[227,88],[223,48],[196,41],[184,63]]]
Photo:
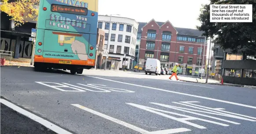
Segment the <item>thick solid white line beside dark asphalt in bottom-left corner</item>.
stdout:
[[56,132],[57,134],[72,134],[72,133],[68,132],[67,130],[64,130],[63,128],[56,126],[55,124],[53,124],[53,123],[51,123],[47,120],[44,120],[43,118],[41,118],[39,116],[36,116],[33,113],[28,112],[25,109],[22,109],[22,108],[18,107],[17,105],[12,104],[9,101],[6,101],[2,98],[0,100],[1,100],[1,103],[6,105],[7,107],[9,107],[9,108],[23,114],[24,116],[27,116],[30,119],[44,125],[45,127],[49,128],[50,130]]

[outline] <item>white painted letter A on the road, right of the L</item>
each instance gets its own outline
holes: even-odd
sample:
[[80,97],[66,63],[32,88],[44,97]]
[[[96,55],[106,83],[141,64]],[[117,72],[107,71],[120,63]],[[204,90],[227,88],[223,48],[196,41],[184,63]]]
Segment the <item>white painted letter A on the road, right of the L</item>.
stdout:
[[[176,120],[178,122],[185,123],[187,125],[197,127],[197,128],[200,128],[200,129],[206,129],[206,127],[197,125],[195,123],[188,122],[187,120],[200,120],[200,121],[213,123],[213,124],[217,124],[217,125],[221,125],[221,126],[225,126],[225,127],[229,126],[227,124],[218,123],[218,122],[211,121],[211,120],[205,120],[205,119],[201,119],[201,118],[197,118],[197,117],[193,117],[193,116],[186,116],[186,115],[179,114],[179,113],[176,113],[176,112],[169,112],[169,111],[165,111],[165,110],[155,109],[155,108],[147,107],[147,106],[144,106],[144,105],[138,105],[138,104],[134,104],[134,103],[126,103],[126,104],[132,105],[132,106],[137,107],[139,109],[143,109],[143,110],[146,110],[148,112],[152,112],[152,113],[158,114],[160,116],[164,116],[164,117],[167,117],[169,119]],[[159,112],[157,112],[157,111],[159,111]],[[169,115],[164,114],[162,112],[173,114],[173,115],[176,115],[176,116],[183,116],[185,118],[176,118],[174,116],[169,116]]]

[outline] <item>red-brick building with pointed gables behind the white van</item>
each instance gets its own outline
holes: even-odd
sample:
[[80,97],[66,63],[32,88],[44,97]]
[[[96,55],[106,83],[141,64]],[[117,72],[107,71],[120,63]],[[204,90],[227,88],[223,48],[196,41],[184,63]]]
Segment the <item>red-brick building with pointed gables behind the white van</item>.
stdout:
[[139,67],[145,67],[147,58],[157,58],[162,67],[172,68],[170,65],[178,62],[183,70],[179,73],[198,75],[199,68],[206,63],[207,40],[204,45],[203,32],[176,28],[169,21],[156,22],[154,19],[139,24],[145,24],[137,34],[141,37]]

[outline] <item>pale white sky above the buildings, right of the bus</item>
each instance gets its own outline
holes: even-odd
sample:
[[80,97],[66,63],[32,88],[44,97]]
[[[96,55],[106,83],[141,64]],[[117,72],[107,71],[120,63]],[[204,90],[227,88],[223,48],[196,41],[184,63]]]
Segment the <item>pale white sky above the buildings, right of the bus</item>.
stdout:
[[99,0],[98,12],[100,15],[119,14],[137,22],[149,22],[152,18],[157,22],[169,20],[174,27],[196,29],[200,25],[197,18],[201,4],[209,3],[210,0]]

